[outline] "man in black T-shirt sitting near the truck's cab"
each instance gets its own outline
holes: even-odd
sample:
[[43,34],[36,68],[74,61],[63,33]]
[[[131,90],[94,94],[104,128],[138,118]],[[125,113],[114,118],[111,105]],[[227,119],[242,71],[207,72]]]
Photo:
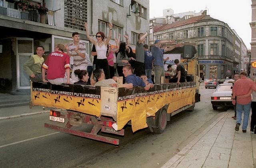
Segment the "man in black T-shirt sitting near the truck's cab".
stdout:
[[180,61],[178,59],[174,60],[174,63],[177,65],[177,77],[173,77],[172,79],[169,79],[169,83],[175,83],[179,84],[180,82],[186,82],[186,70],[185,67],[180,64]]

